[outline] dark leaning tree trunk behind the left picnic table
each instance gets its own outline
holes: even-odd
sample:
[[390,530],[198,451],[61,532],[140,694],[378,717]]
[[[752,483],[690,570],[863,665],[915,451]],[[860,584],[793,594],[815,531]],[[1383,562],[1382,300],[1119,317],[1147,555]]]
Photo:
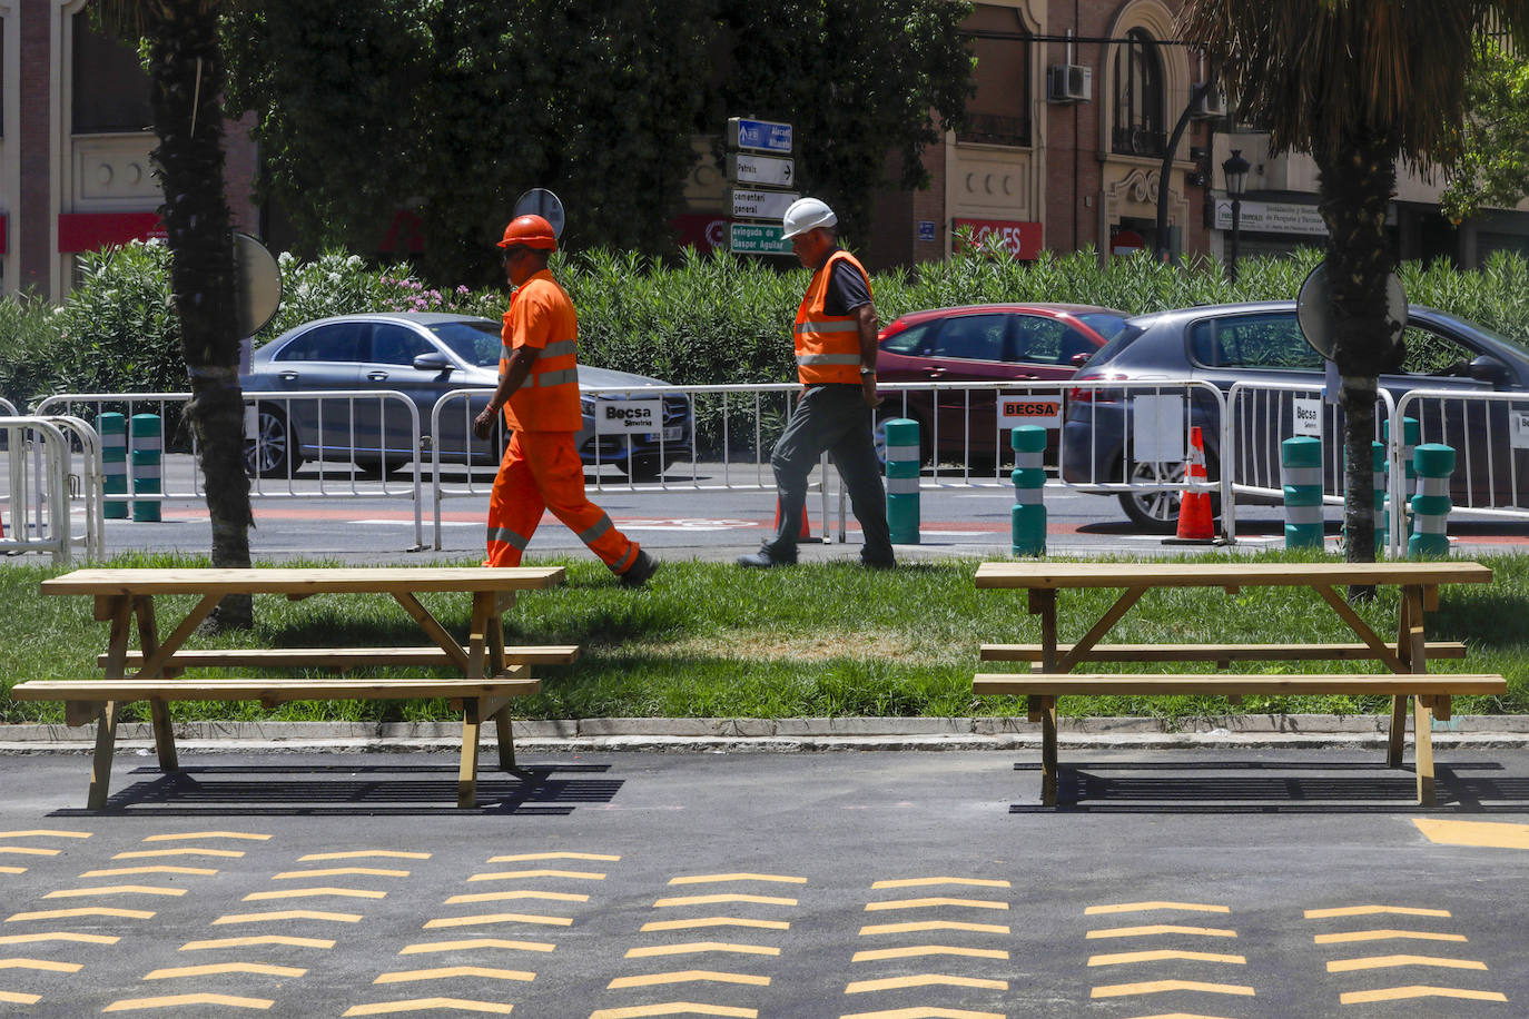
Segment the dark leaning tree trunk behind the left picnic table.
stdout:
[[[170,287],[191,376],[187,423],[206,483],[213,565],[248,567],[254,518],[239,388],[234,237],[223,199],[223,60],[216,5],[161,0],[145,8],[159,136],[153,154],[165,196],[159,215],[170,235]],[[248,594],[225,597],[211,617],[216,629],[251,625]]]

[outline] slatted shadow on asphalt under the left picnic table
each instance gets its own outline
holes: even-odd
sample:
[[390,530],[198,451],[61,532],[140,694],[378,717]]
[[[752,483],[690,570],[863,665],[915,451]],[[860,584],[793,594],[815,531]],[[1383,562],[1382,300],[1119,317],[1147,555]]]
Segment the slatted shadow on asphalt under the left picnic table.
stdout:
[[[564,778],[561,773],[601,775],[605,764],[526,765],[518,776],[483,767],[477,802],[457,808],[457,768],[422,765],[196,765],[170,775],[156,767],[135,768],[145,776],[113,794],[104,810],[58,810],[54,817],[102,814],[197,816],[387,816],[387,814],[534,814],[567,816],[578,807],[609,804],[624,781]],[[312,778],[320,776],[320,778]],[[335,778],[329,778],[335,776]],[[437,778],[440,776],[440,778]]]

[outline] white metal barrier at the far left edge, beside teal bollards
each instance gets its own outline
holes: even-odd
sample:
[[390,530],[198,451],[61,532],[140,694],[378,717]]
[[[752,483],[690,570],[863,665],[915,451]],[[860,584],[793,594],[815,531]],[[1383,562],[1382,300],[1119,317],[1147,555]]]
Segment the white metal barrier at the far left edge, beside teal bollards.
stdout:
[[[5,437],[6,509],[9,526],[0,538],[8,555],[50,553],[67,562],[78,548],[86,558],[102,553],[101,445],[76,417],[0,417]],[[80,471],[75,474],[75,446]],[[84,527],[73,530],[72,497],[84,506]]]

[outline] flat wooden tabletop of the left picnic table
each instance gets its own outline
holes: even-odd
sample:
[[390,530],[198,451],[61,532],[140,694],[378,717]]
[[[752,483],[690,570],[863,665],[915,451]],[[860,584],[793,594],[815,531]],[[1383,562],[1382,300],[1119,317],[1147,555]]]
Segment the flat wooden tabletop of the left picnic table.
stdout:
[[43,594],[391,594],[531,591],[563,584],[563,567],[133,567],[43,581]]

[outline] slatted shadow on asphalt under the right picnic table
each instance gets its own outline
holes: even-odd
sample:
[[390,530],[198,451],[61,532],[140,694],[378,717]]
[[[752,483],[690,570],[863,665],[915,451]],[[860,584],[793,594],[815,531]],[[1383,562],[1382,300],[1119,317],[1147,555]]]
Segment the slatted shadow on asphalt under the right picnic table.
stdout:
[[[1040,764],[1015,764],[1040,772]],[[1142,775],[1147,772],[1148,775]],[[1220,775],[1205,775],[1219,772]],[[1281,775],[1266,775],[1281,772]],[[1341,775],[1327,775],[1341,772]],[[1468,775],[1501,772],[1495,764],[1436,764],[1437,807],[1419,807],[1411,765],[1338,762],[1303,773],[1289,764],[1246,761],[1063,764],[1057,807],[1012,804],[1011,814],[1035,813],[1398,813],[1521,814],[1529,778]],[[1190,775],[1199,773],[1199,775]],[[1037,776],[1038,787],[1038,776]],[[1037,788],[1037,799],[1040,790]]]

